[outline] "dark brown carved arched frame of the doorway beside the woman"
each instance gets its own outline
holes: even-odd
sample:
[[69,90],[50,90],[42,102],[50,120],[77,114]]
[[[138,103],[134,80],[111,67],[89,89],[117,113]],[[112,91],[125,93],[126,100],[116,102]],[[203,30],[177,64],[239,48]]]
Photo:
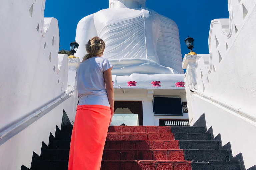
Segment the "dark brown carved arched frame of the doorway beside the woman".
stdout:
[[142,101],[115,101],[115,111],[117,108],[128,108],[131,113],[138,115],[139,126],[143,126]]

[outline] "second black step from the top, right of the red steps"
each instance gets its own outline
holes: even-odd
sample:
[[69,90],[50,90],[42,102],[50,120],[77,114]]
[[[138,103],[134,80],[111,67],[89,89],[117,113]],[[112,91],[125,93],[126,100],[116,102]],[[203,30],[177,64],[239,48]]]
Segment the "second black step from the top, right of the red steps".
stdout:
[[211,133],[174,133],[175,140],[212,140]]

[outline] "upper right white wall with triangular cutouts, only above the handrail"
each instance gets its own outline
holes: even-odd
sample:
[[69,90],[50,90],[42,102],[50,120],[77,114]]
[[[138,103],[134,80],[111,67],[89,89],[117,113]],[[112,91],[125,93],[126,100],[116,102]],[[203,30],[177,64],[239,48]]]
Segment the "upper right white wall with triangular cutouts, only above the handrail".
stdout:
[[[209,35],[210,58],[207,59],[199,54],[196,66],[198,91],[238,106],[247,112],[256,110],[254,104],[256,99],[256,74],[254,74],[254,63],[256,63],[254,45],[256,40],[255,3],[255,0],[241,0],[240,3],[238,1],[229,2],[229,8],[233,11],[230,14],[233,18],[229,19],[233,25],[229,25],[229,22],[226,23],[231,30],[230,38],[223,33],[225,30],[222,28],[225,25],[217,22],[219,20],[213,20]],[[245,19],[243,19],[243,6],[248,10]],[[234,28],[232,29],[234,25],[238,29],[237,33],[235,33]],[[216,39],[219,42],[217,48]],[[229,46],[228,49],[226,49],[226,42]],[[222,57],[221,61],[219,60],[219,53]],[[256,112],[254,114],[256,115]]]

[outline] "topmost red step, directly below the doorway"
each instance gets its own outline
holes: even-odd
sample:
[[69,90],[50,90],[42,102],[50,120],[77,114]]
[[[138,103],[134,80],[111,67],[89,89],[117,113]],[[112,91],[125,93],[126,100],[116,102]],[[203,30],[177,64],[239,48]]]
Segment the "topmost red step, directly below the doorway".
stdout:
[[171,127],[167,127],[167,126],[109,126],[108,132],[170,133]]

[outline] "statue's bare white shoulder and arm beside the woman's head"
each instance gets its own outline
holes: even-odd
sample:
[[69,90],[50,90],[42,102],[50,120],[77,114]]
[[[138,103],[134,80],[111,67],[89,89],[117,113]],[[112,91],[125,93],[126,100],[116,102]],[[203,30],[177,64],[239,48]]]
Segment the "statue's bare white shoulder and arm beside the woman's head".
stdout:
[[93,37],[98,36],[95,24],[94,24],[94,14],[84,17],[79,21],[76,30],[76,42],[79,44],[76,57],[79,57],[80,60],[86,54],[85,44]]

